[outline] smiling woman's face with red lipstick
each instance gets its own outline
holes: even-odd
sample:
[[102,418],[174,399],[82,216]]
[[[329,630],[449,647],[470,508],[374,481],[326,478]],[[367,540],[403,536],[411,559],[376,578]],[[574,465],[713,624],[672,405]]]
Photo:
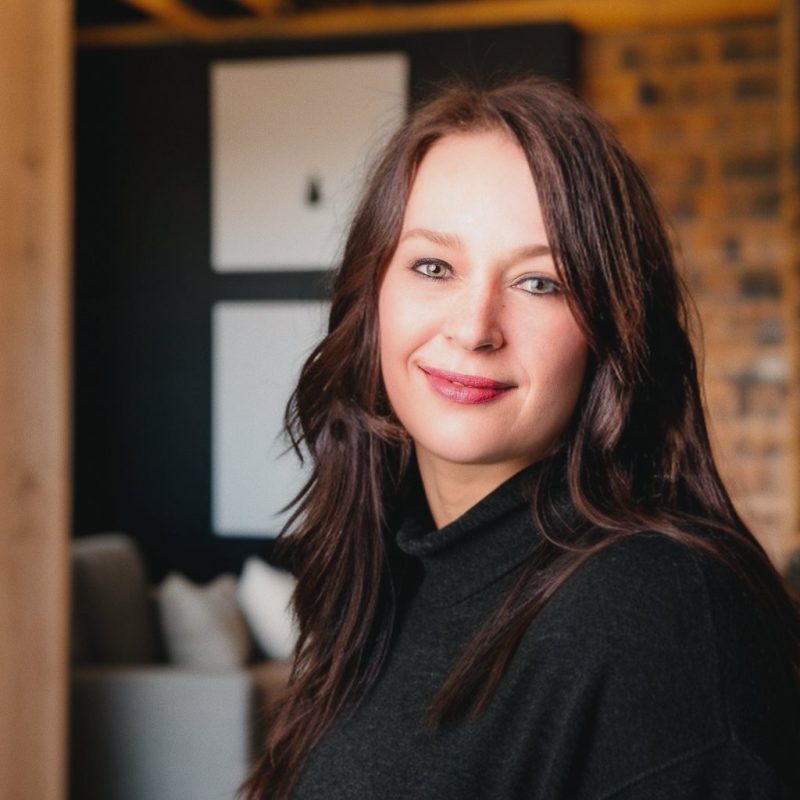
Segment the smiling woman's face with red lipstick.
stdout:
[[553,449],[587,345],[513,139],[450,135],[428,151],[378,314],[384,384],[422,469],[485,464],[510,476]]

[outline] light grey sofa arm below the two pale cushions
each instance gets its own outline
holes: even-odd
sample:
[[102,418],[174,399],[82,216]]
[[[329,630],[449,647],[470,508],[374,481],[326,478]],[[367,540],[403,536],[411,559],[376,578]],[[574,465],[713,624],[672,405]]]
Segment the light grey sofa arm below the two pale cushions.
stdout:
[[84,667],[72,675],[71,800],[231,800],[288,666]]

